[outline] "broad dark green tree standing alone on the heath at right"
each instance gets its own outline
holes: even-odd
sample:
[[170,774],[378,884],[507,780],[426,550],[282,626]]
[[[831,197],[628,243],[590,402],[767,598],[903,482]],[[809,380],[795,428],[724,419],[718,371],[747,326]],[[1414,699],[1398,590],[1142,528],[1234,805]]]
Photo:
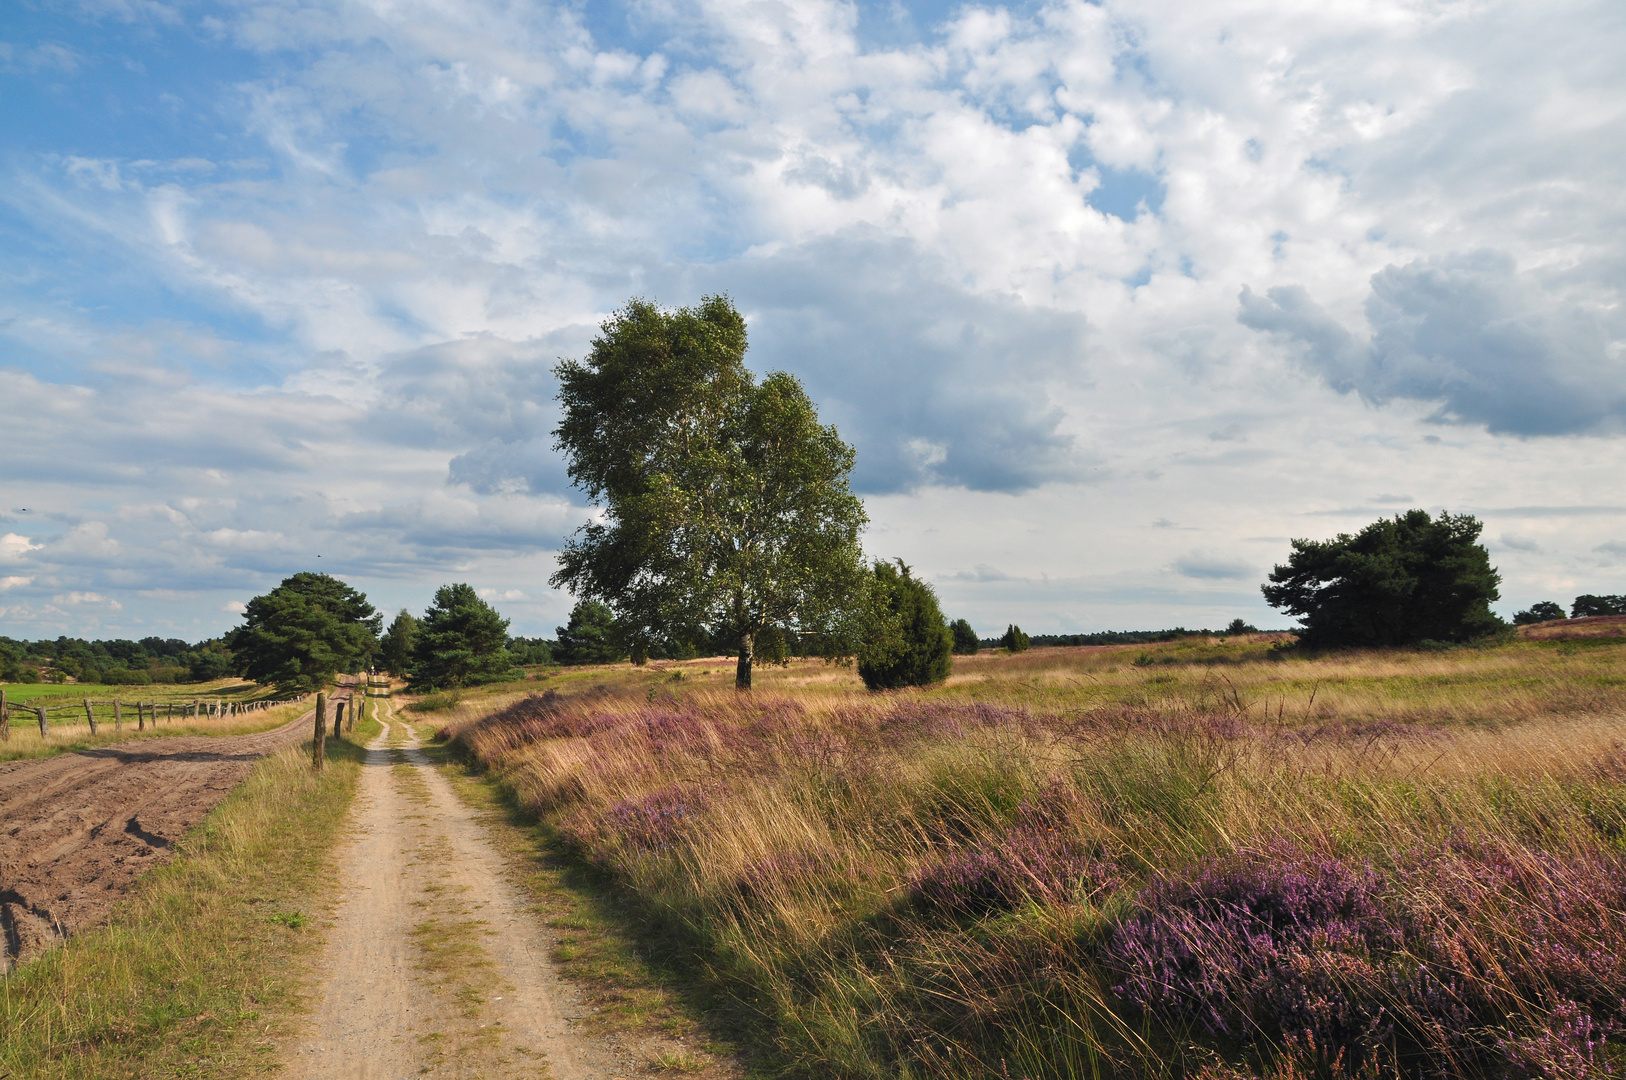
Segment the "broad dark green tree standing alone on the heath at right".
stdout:
[[1265,600],[1301,616],[1311,647],[1470,641],[1504,623],[1491,612],[1501,576],[1468,514],[1406,511],[1354,537],[1294,540]]

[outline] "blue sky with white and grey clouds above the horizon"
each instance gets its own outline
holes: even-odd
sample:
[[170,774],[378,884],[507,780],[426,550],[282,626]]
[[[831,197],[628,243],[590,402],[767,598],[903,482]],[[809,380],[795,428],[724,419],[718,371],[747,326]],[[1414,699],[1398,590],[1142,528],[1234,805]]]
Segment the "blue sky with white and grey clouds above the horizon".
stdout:
[[1618,0],[11,0],[0,634],[306,569],[519,634],[553,364],[727,293],[985,636],[1286,626],[1289,538],[1470,512],[1626,592]]

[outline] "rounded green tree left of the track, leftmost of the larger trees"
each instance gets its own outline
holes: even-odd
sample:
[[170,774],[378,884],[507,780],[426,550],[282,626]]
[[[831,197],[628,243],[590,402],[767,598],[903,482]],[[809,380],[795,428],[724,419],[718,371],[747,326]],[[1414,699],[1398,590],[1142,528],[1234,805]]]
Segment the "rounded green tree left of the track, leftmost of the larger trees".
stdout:
[[327,686],[366,665],[379,647],[379,615],[367,597],[328,574],[301,573],[249,600],[226,644],[242,673],[280,691]]

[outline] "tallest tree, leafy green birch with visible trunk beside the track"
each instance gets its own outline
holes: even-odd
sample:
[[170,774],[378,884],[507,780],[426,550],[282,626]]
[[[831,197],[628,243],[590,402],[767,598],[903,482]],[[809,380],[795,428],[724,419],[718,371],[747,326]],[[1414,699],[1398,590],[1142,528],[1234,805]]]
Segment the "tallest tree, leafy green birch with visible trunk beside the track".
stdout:
[[741,688],[769,626],[823,633],[850,608],[867,522],[852,447],[792,376],[758,384],[745,350],[725,296],[633,299],[585,359],[554,369],[556,446],[605,516],[566,543],[553,584],[608,602],[641,655],[727,634]]

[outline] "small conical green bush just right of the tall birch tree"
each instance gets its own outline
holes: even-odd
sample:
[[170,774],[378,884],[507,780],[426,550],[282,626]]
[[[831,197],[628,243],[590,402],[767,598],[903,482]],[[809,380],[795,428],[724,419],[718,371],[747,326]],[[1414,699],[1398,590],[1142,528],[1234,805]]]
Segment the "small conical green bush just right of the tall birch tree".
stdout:
[[930,686],[948,678],[954,636],[943,621],[937,592],[898,564],[876,563],[870,581],[870,616],[859,651],[859,678],[870,690]]

